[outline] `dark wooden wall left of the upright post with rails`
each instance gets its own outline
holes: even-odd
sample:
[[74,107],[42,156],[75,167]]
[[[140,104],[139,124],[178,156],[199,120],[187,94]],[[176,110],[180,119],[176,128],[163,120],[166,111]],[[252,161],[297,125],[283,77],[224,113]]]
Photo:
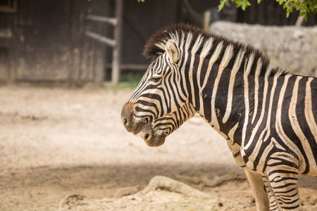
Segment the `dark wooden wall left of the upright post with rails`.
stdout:
[[11,39],[0,39],[0,80],[103,81],[100,60],[104,56],[100,52],[104,53],[104,46],[96,45],[84,33],[87,25],[98,30],[98,26],[87,23],[87,13],[98,4],[105,15],[108,3],[18,0],[16,13],[0,13],[0,37],[1,30],[12,32]]

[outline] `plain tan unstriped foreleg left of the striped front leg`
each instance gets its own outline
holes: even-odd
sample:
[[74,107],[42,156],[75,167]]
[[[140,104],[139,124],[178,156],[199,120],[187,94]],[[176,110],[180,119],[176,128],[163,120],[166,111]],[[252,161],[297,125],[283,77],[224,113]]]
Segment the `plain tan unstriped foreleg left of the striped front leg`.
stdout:
[[254,197],[256,200],[256,210],[270,210],[268,204],[268,194],[266,193],[266,189],[264,187],[262,175],[256,172],[249,172],[248,170],[244,170],[244,172],[247,175],[251,190],[254,193]]

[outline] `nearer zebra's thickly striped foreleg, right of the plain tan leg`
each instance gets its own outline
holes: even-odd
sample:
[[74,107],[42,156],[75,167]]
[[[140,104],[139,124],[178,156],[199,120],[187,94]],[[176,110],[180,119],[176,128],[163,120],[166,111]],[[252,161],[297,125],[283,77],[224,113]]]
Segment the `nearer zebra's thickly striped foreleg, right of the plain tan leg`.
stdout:
[[[276,166],[278,167],[278,166]],[[279,166],[268,170],[268,180],[278,200],[280,210],[299,210],[298,173],[294,167]]]

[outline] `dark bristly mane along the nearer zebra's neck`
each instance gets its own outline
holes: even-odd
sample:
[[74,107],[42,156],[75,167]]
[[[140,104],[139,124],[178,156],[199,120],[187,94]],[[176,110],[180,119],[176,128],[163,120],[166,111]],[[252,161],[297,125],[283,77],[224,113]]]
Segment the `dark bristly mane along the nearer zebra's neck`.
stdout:
[[[216,46],[221,41],[223,42],[223,49],[225,49],[227,46],[232,45],[234,49],[234,54],[232,58],[235,58],[237,56],[237,53],[243,49],[245,51],[244,53],[244,59],[249,58],[251,54],[254,56],[254,61],[259,60],[261,58],[262,61],[262,68],[261,68],[261,74],[265,75],[266,71],[270,71],[270,76],[279,74],[279,75],[287,75],[290,74],[290,72],[286,70],[282,70],[278,67],[275,68],[269,68],[270,65],[270,59],[267,56],[264,56],[263,53],[256,49],[254,46],[250,46],[249,44],[243,44],[240,41],[233,41],[232,39],[228,39],[213,33],[204,32],[199,27],[195,27],[193,25],[185,25],[182,23],[170,25],[168,27],[163,27],[161,30],[157,31],[155,34],[153,34],[149,40],[147,41],[147,44],[144,47],[143,55],[146,58],[151,58],[151,60],[155,60],[158,56],[163,54],[165,52],[165,45],[168,39],[175,40],[175,37],[178,37],[180,39],[181,37],[185,36],[185,40],[187,38],[187,35],[191,33],[192,34],[192,40],[189,46],[189,51],[192,49],[192,46],[194,46],[195,41],[197,38],[202,37],[202,44],[200,45],[197,54],[201,53],[203,49],[203,44],[205,41],[213,38],[213,46],[211,50],[209,51],[209,57],[213,53],[214,49],[216,49]],[[220,56],[221,58],[221,56]],[[233,65],[233,59],[231,59],[230,63],[228,64],[228,68],[232,68]],[[252,72],[250,72],[252,74]]]

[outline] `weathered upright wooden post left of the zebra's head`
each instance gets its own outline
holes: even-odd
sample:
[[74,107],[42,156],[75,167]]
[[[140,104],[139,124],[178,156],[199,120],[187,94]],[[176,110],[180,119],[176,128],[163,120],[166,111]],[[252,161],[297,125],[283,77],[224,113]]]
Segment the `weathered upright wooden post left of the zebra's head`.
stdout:
[[120,57],[121,57],[121,32],[123,20],[123,0],[116,0],[116,20],[117,25],[114,27],[113,39],[116,41],[116,46],[113,48],[112,56],[112,76],[111,83],[118,84],[120,78]]

